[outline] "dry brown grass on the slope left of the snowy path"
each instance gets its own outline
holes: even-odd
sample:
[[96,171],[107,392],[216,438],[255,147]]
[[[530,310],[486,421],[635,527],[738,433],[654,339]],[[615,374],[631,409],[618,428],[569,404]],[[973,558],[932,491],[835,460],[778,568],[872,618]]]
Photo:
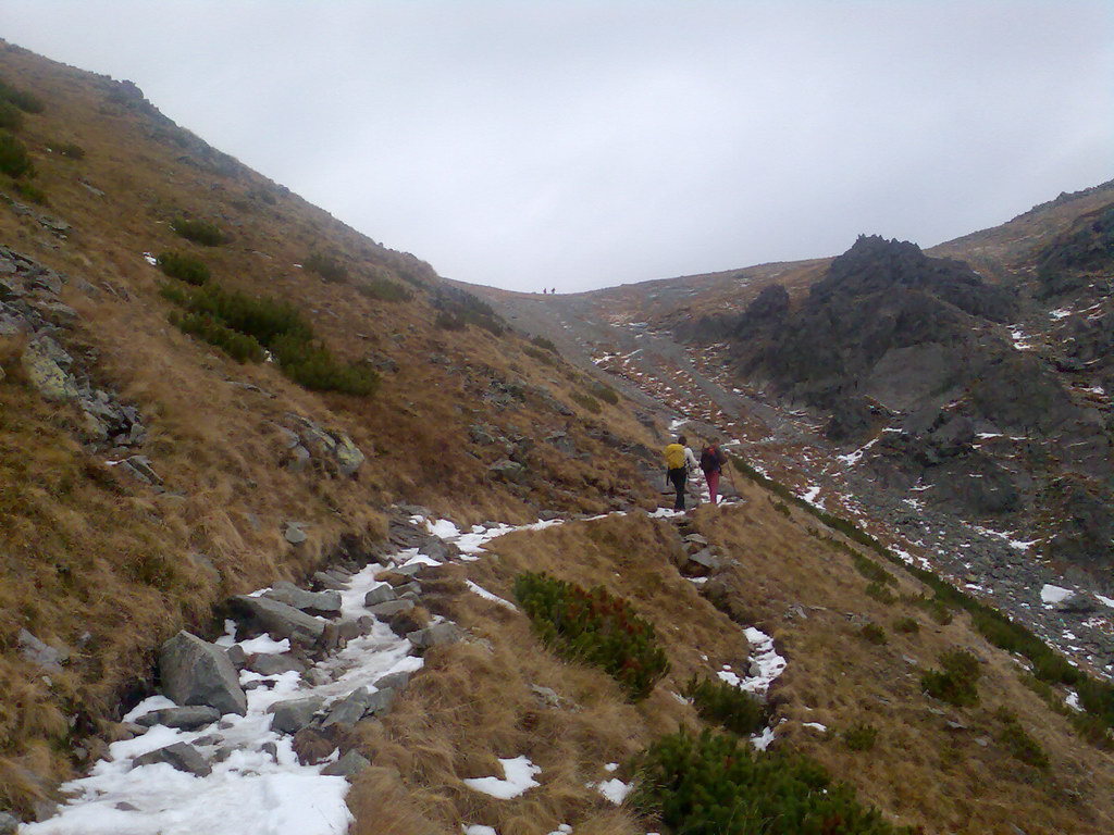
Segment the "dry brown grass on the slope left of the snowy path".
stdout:
[[[342,257],[355,274],[436,282],[428,265],[372,244],[252,171],[208,168],[195,148],[158,138],[173,127],[113,101],[106,79],[3,46],[0,75],[47,105],[19,136],[49,197],[42,210],[72,226],[68,237],[55,237],[0,204],[0,237],[92,285],[86,291],[74,281],[63,291],[81,318],[61,338],[75,355],[96,356],[85,365],[97,385],[139,409],[149,440],[138,452],[168,491],[118,478],[82,451],[72,440],[78,415],[26,390],[20,344],[0,344],[8,372],[0,383],[4,767],[22,763],[31,775],[67,776],[69,743],[85,739],[88,748],[96,745],[88,734],[113,733],[108,720],[120,695],[149,682],[153,652],[174,629],[206,632],[226,595],[306,577],[342,534],[381,534],[381,509],[391,502],[424,503],[461,522],[529,521],[540,508],[598,512],[643,495],[629,465],[616,463],[580,422],[537,400],[502,409],[482,397],[494,377],[549,386],[545,381],[558,376],[554,394],[568,400],[565,377],[526,355],[519,336],[436,331],[423,291],[412,302],[383,303],[296,266],[317,250]],[[85,159],[48,150],[60,141],[80,145]],[[215,220],[232,242],[194,247],[168,226],[182,213]],[[398,362],[398,372],[384,374],[374,397],[354,399],[307,392],[267,365],[237,365],[167,322],[170,306],[158,295],[166,279],[141,257],[166,249],[195,250],[223,285],[294,301],[343,360],[359,362],[374,350]],[[433,354],[449,364],[430,362]],[[368,455],[359,477],[287,472],[275,429],[287,412],[348,433]],[[488,464],[506,452],[469,442],[477,422],[539,441],[524,484],[489,481]],[[540,443],[558,430],[575,438],[586,460],[566,460]],[[297,548],[282,537],[290,519],[306,523],[309,541]],[[219,577],[190,560],[194,552]],[[22,627],[74,652],[49,687],[18,656],[13,639]],[[85,631],[92,638],[80,644]],[[66,717],[74,715],[81,719],[71,735]],[[0,808],[26,812],[42,790],[22,778],[3,785]]]

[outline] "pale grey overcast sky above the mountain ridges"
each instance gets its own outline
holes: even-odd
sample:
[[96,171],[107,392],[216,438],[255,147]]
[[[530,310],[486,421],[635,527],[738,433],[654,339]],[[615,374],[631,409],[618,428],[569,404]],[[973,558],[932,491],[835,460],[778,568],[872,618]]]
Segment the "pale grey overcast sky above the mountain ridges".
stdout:
[[442,275],[921,246],[1114,177],[1110,0],[0,0],[0,36]]

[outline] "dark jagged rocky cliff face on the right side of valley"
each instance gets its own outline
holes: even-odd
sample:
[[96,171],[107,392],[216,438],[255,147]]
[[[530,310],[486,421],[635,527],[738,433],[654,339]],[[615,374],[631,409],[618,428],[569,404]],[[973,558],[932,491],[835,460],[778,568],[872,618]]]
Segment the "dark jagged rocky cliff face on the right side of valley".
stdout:
[[[1097,223],[1044,250],[1045,286],[1094,269]],[[829,440],[869,443],[866,465],[885,487],[968,519],[1047,527],[1049,556],[1106,566],[1107,418],[1064,372],[1105,362],[1111,317],[1068,317],[1071,338],[1049,352],[1007,324],[1027,304],[962,262],[860,237],[795,310],[784,287],[766,287],[733,325],[733,361],[743,379],[827,412]]]

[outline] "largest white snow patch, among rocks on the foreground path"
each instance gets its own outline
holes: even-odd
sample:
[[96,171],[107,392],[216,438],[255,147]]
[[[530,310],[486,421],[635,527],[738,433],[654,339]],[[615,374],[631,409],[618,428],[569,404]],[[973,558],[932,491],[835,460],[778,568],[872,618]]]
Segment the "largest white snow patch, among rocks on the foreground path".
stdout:
[[[394,556],[397,563],[437,564],[417,549]],[[356,573],[341,592],[345,617],[368,615],[363,597],[379,586],[377,573],[389,570],[371,564]],[[261,636],[235,640],[235,622],[217,639],[222,647],[238,644],[247,655],[280,652],[287,640]],[[63,784],[72,799],[59,814],[23,827],[25,835],[343,835],[351,815],[344,803],[348,782],[321,774],[328,765],[304,766],[293,749],[293,738],[271,730],[267,708],[291,698],[322,697],[328,705],[358,687],[374,690],[374,682],[391,672],[413,671],[422,659],[410,655],[410,642],[375,621],[369,635],[349,641],[340,652],[325,658],[317,669],[326,684],[311,685],[296,672],[261,676],[240,674],[242,685],[264,681],[268,687],[247,690],[247,715],[228,714],[219,726],[176,730],[156,725],[134,739],[114,743],[108,756],[80,779]],[[127,717],[172,707],[165,696],[153,696]],[[212,766],[207,776],[194,776],[167,764],[131,767],[143,754],[175,743],[194,745]],[[270,750],[273,747],[273,753]],[[214,762],[218,749],[231,752]],[[335,755],[334,755],[335,756]]]

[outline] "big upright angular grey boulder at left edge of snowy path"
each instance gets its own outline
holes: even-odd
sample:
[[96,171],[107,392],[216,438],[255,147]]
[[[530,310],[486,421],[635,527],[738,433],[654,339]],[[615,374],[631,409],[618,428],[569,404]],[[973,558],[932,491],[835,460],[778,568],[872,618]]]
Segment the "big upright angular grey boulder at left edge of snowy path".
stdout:
[[207,705],[222,714],[247,714],[247,697],[225,651],[186,631],[158,655],[163,691],[178,705]]

